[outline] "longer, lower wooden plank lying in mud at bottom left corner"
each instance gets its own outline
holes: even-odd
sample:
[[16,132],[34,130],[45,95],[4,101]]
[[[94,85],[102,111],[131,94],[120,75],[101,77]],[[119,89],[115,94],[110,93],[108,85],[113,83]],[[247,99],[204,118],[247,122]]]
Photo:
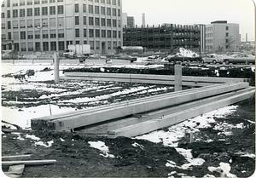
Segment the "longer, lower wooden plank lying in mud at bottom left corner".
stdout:
[[17,164],[25,164],[25,165],[42,165],[42,164],[55,164],[55,159],[45,159],[45,160],[29,160],[29,161],[2,161],[2,165],[17,165]]

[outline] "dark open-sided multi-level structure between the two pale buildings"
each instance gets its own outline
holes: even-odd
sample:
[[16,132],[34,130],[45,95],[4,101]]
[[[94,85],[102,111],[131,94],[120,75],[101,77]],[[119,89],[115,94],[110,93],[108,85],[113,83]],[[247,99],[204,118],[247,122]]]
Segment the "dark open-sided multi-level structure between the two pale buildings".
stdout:
[[151,50],[172,51],[183,47],[200,51],[200,27],[164,24],[123,28],[124,46],[143,46]]

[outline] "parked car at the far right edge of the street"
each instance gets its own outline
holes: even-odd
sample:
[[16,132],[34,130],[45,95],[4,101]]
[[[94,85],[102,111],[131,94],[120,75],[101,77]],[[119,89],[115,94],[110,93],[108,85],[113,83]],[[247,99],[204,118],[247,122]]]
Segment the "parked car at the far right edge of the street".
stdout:
[[255,64],[255,56],[253,55],[245,55],[245,54],[238,54],[238,55],[231,55],[230,57],[224,58],[224,63],[226,65],[238,64],[238,63],[245,63],[245,64]]

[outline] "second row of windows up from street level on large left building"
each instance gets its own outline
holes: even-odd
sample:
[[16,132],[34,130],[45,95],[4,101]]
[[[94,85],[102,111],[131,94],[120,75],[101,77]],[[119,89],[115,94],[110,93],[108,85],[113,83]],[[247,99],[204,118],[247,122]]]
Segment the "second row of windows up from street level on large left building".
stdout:
[[[83,31],[80,31],[80,29],[75,29],[75,37],[108,37],[108,38],[121,38],[121,32],[120,31],[111,31],[111,30],[99,30],[99,29],[89,29],[89,34],[87,34],[87,29],[83,29]],[[40,31],[28,31],[28,32],[14,32],[14,38],[12,38],[12,33],[8,32],[8,39],[9,40],[19,40],[19,39],[40,39],[41,33]],[[26,36],[27,34],[27,36]],[[20,36],[19,36],[20,35]],[[44,39],[46,38],[56,38],[58,35],[59,38],[64,37],[64,30],[59,30],[58,33],[56,33],[55,30],[44,30],[42,31],[42,37]],[[2,34],[2,39],[6,39],[6,35]]]

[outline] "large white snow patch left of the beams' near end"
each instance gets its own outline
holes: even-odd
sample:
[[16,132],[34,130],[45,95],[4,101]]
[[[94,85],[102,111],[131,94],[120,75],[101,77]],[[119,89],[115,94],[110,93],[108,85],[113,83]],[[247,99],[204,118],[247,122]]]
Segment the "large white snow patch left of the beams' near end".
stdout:
[[[50,108],[53,115],[75,111],[75,109],[71,107],[60,108],[52,104]],[[30,129],[32,118],[50,117],[49,105],[33,106],[19,110],[20,109],[16,107],[2,106],[2,119],[9,123],[15,123],[22,129]]]

